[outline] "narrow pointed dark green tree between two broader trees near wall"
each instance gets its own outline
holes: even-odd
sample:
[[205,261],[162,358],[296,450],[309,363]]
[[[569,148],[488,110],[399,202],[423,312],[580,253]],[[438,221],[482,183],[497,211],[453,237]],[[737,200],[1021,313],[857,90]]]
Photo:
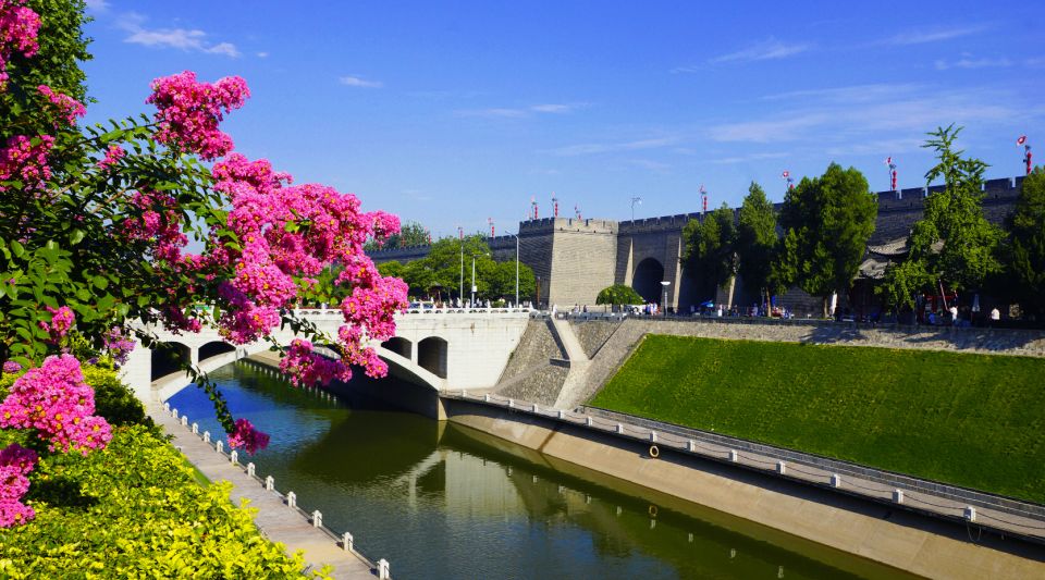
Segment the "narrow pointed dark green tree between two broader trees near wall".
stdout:
[[776,246],[776,210],[762,187],[751,182],[737,224],[737,257],[740,260],[737,273],[746,286],[759,288],[760,294],[779,289],[772,277]]

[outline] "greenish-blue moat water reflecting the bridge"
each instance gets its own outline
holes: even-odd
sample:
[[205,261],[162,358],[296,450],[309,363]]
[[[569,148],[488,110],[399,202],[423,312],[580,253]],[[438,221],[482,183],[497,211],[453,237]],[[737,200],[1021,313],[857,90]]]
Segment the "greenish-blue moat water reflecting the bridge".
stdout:
[[[394,578],[903,576],[468,428],[297,390],[243,362],[212,377],[233,414],[272,437],[249,459],[258,474],[352,532],[371,559],[388,559]],[[170,403],[221,432],[201,391]]]

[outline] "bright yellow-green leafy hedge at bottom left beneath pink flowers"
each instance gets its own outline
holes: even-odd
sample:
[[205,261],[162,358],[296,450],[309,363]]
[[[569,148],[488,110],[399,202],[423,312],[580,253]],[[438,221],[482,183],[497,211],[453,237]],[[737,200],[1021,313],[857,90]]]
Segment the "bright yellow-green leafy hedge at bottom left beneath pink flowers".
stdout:
[[[156,428],[127,420],[137,415],[111,371],[86,375],[93,385],[114,383],[96,397],[99,410],[115,409],[107,419],[120,427],[104,451],[41,458],[26,496],[36,519],[0,529],[0,577],[302,576],[303,556],[288,557],[282,544],[265,539],[254,510],[231,503],[231,484],[199,485]],[[10,382],[0,384],[0,396]],[[0,447],[26,443],[25,436],[0,431]]]

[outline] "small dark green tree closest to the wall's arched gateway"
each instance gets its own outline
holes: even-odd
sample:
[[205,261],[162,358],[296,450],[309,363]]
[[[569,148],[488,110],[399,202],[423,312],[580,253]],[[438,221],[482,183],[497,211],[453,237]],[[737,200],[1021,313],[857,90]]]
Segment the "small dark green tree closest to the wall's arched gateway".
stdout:
[[683,229],[683,269],[705,289],[725,286],[736,275],[737,227],[725,203],[703,221],[690,220]]

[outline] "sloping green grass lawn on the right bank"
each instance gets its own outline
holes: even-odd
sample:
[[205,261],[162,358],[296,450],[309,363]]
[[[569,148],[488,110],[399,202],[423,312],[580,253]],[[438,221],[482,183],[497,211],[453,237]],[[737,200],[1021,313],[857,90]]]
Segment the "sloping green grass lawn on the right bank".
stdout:
[[1045,503],[1045,359],[650,335],[591,405]]

